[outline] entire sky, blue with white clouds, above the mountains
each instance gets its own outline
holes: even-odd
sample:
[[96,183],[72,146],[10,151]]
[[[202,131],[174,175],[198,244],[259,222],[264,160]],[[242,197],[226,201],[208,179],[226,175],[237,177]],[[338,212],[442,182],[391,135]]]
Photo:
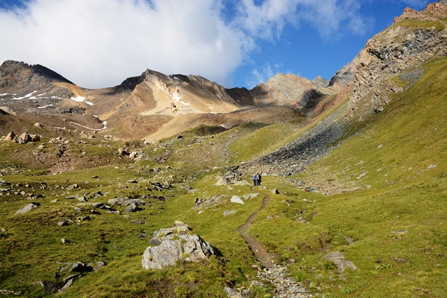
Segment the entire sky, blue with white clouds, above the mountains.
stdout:
[[277,73],[330,79],[404,8],[437,0],[0,0],[0,63],[80,87],[146,69],[251,89]]

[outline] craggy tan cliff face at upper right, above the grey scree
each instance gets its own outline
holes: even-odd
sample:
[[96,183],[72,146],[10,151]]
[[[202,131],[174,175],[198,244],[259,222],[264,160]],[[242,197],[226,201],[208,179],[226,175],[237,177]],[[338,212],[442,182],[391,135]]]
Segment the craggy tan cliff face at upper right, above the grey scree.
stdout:
[[391,27],[367,41],[358,54],[348,117],[381,112],[390,102],[389,94],[402,91],[391,77],[414,71],[417,78],[418,66],[446,56],[446,17],[443,3],[430,3],[420,12],[406,8]]

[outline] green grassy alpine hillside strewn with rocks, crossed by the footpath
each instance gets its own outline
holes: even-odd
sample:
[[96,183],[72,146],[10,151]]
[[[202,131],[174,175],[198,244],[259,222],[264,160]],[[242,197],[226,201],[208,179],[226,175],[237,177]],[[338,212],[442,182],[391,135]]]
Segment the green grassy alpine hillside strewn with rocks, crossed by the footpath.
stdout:
[[[273,151],[313,125],[303,119],[228,131],[203,127],[147,146],[101,138],[79,142],[73,135],[64,161],[76,161],[78,170],[52,175],[47,168],[54,165],[21,156],[57,156],[58,145],[1,142],[0,290],[51,297],[39,281],[64,284],[73,274],[65,267],[94,267],[103,260],[107,265],[82,273],[57,296],[226,297],[228,286],[273,297],[272,285],[254,282],[262,265],[238,232],[268,196],[248,232],[315,296],[446,297],[447,58],[421,70],[414,84],[406,76],[393,78],[406,91],[360,133],[291,177],[319,193],[281,177],[264,177],[256,188],[250,177],[237,177],[247,185],[216,183],[240,161]],[[143,157],[131,161],[117,154],[119,147]],[[252,193],[259,195],[230,202],[233,195]],[[124,197],[145,205],[129,214],[112,205],[116,214],[82,202]],[[210,204],[198,206],[196,199]],[[40,206],[15,214],[31,202]],[[143,270],[151,234],[176,220],[223,257]],[[342,271],[340,265],[350,267]]]

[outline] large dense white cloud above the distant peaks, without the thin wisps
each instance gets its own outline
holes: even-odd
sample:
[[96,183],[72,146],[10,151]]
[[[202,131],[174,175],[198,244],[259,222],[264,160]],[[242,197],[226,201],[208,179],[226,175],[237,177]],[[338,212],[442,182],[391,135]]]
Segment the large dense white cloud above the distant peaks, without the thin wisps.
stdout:
[[0,10],[0,59],[42,64],[82,87],[119,84],[146,68],[225,84],[243,36],[212,0],[34,0]]

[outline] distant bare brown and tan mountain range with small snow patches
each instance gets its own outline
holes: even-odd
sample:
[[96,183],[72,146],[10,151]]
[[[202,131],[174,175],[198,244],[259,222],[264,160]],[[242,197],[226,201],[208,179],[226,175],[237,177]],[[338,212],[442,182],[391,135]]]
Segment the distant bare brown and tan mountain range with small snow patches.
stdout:
[[[179,130],[173,131],[171,127],[177,127],[179,122],[183,123],[182,129],[188,129],[211,122],[230,127],[258,121],[261,115],[265,121],[293,119],[286,117],[311,111],[327,94],[318,90],[325,89],[328,84],[322,78],[316,79],[314,84],[296,75],[278,74],[252,90],[225,89],[197,75],[164,75],[146,70],[119,86],[89,90],[43,66],[17,61],[5,61],[0,66],[0,74],[0,106],[10,114],[59,117],[63,114],[64,119],[73,123],[79,123],[76,121],[82,118],[79,124],[85,129],[97,130],[101,127],[97,126],[95,116],[107,122],[101,133],[125,138],[146,137],[147,140],[175,135]],[[268,117],[270,110],[263,108],[274,106],[284,107],[288,112],[272,119]],[[229,113],[240,109],[255,109],[256,112],[238,113],[232,121]],[[226,114],[225,121],[219,121],[222,116],[216,116],[222,114]],[[184,117],[194,121],[181,120]]]

